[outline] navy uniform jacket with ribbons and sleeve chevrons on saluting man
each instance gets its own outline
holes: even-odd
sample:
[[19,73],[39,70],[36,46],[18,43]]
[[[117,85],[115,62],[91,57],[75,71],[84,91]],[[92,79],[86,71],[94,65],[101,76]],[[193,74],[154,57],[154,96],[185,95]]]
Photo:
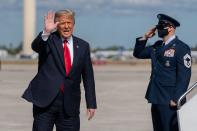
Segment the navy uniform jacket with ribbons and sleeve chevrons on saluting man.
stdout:
[[140,59],[151,59],[152,71],[146,99],[153,104],[169,105],[177,101],[187,90],[191,77],[191,51],[178,38],[163,46],[157,41],[146,46],[145,40],[137,38],[133,55]]

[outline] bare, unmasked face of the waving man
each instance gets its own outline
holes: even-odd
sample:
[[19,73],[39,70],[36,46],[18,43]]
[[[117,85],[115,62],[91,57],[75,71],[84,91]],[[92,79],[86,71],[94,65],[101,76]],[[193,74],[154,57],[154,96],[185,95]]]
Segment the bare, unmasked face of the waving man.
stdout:
[[62,15],[59,17],[57,30],[61,37],[67,39],[72,36],[74,30],[74,20],[71,16]]

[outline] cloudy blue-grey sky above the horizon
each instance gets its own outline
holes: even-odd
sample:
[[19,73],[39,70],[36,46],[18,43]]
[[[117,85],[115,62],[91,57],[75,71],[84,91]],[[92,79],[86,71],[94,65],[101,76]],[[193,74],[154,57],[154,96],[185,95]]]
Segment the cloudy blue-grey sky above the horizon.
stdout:
[[[158,13],[176,18],[177,35],[190,46],[197,45],[197,0],[37,0],[36,34],[43,29],[48,10],[76,12],[74,35],[92,47],[133,47],[135,38],[156,25]],[[23,39],[23,0],[0,0],[0,44],[19,44]],[[153,38],[150,42],[157,39]]]

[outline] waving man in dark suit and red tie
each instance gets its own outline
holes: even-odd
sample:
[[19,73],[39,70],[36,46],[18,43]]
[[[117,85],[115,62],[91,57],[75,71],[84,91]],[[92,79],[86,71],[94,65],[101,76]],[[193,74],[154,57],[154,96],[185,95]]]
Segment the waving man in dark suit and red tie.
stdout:
[[83,79],[87,114],[90,120],[97,108],[95,82],[89,44],[73,36],[75,13],[48,12],[44,30],[32,49],[39,54],[38,72],[23,94],[33,103],[33,131],[79,131]]

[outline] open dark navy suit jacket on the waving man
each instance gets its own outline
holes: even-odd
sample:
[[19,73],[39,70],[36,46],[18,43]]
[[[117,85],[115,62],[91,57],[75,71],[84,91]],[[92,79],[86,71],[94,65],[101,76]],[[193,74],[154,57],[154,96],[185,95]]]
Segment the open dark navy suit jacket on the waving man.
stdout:
[[81,100],[80,83],[83,78],[87,108],[96,108],[95,83],[89,44],[73,36],[74,58],[66,76],[62,40],[58,32],[45,42],[42,32],[32,43],[39,53],[38,72],[23,94],[23,98],[38,107],[47,107],[64,85],[64,105],[68,115],[78,115]]

